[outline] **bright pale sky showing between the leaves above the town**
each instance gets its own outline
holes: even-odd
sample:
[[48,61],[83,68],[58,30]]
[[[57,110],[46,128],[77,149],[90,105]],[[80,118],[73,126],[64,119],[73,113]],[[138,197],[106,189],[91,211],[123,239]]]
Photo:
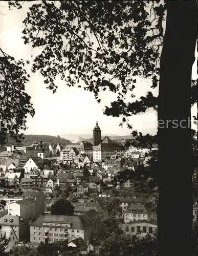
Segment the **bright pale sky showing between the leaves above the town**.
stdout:
[[[26,17],[31,3],[25,3],[21,10],[8,10],[7,3],[1,2],[0,11],[0,45],[3,50],[15,58],[31,59],[38,50],[30,45],[24,45],[21,39],[23,19]],[[196,56],[197,57],[197,56]],[[196,79],[196,60],[192,69],[192,78]],[[56,80],[57,92],[46,89],[43,77],[37,72],[31,74],[27,83],[26,92],[31,96],[35,109],[34,117],[28,117],[25,134],[62,135],[62,134],[92,134],[96,121],[102,134],[130,135],[127,127],[119,127],[122,118],[109,117],[103,114],[105,105],[116,100],[111,92],[101,93],[101,102],[97,103],[91,92],[79,88],[69,88],[63,81]],[[145,96],[149,91],[150,81],[137,78],[137,88],[134,94],[137,97]],[[158,90],[153,93],[155,96]],[[134,99],[130,99],[134,100]],[[192,115],[196,115],[196,106],[192,108]],[[134,130],[143,134],[156,134],[157,113],[149,110],[129,119]]]

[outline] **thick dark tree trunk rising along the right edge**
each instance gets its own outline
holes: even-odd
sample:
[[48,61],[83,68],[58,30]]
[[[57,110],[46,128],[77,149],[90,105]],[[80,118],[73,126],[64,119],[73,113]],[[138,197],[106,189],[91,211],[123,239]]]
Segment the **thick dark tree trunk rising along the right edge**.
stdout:
[[197,38],[197,3],[176,0],[166,1],[166,6],[158,105],[158,245],[160,256],[191,256],[190,91]]

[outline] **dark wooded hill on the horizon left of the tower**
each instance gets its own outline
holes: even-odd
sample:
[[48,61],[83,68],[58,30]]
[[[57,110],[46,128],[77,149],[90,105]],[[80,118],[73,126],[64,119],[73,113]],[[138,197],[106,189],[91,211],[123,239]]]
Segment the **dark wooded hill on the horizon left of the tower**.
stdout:
[[[43,143],[50,142],[50,143],[62,143],[62,144],[70,144],[70,140],[63,139],[60,136],[50,136],[50,135],[24,135],[25,139],[19,144],[19,146],[26,146],[31,145],[33,142],[39,143],[40,140],[42,140]],[[17,143],[12,140],[11,138],[8,138],[8,141],[6,145],[17,145]]]

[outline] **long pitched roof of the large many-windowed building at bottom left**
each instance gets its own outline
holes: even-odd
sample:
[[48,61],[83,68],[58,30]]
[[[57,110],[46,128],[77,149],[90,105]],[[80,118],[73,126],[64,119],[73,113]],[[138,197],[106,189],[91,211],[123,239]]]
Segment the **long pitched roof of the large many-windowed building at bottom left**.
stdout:
[[45,222],[52,223],[67,223],[72,222],[72,228],[83,229],[83,225],[78,216],[63,216],[63,215],[41,215],[31,226],[42,226]]

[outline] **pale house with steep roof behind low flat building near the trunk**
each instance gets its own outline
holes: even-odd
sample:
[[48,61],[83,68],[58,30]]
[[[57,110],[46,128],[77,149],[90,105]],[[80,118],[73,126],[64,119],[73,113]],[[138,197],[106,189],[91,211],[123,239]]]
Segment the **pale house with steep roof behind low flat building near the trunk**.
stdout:
[[124,223],[136,220],[147,220],[148,214],[143,204],[133,204],[124,212]]

